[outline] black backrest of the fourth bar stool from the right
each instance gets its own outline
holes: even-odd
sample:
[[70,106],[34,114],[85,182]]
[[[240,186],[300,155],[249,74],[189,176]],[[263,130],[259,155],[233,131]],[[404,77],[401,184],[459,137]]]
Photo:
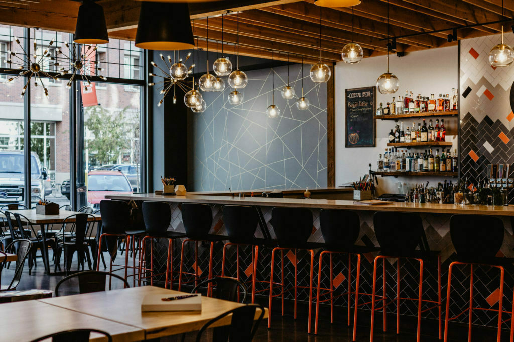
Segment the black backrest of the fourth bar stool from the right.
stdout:
[[270,223],[279,246],[295,247],[307,242],[313,231],[313,213],[307,208],[275,207]]

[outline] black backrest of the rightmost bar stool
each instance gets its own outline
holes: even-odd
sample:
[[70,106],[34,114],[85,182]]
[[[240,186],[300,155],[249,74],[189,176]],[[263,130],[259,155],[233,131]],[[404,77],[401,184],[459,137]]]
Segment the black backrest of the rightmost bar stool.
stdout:
[[450,218],[451,242],[462,261],[487,263],[502,247],[504,234],[499,217],[453,215]]

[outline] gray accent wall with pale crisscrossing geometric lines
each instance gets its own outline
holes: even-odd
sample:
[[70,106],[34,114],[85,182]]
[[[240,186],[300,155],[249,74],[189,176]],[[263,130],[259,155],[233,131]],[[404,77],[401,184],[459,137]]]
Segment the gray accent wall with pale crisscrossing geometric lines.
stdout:
[[[315,85],[304,65],[308,110],[296,98],[283,99],[287,66],[274,68],[274,104],[278,118],[268,118],[271,68],[246,71],[244,103],[228,102],[232,89],[203,92],[204,113],[189,113],[188,191],[319,188],[327,185],[326,84]],[[289,83],[301,96],[301,65],[289,67]]]

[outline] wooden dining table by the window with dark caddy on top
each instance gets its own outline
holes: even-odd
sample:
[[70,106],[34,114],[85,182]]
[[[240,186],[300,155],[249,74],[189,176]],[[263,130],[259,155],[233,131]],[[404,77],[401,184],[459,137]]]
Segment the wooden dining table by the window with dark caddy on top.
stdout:
[[[41,230],[41,240],[43,241],[43,245],[46,246],[46,227],[48,225],[53,224],[62,224],[64,219],[66,219],[70,215],[81,214],[77,211],[69,211],[69,210],[60,210],[58,215],[44,215],[36,213],[35,209],[24,209],[24,210],[8,210],[9,213],[12,214],[21,214],[20,219],[22,222],[29,222],[32,225],[39,225]],[[89,222],[101,222],[102,217],[100,215],[90,214],[92,216],[88,217]],[[93,218],[94,217],[94,218]],[[74,223],[75,219],[70,218],[67,220],[68,223]],[[50,275],[50,265],[48,261],[48,249],[45,247],[41,251],[43,256],[43,264],[45,266],[46,274]]]

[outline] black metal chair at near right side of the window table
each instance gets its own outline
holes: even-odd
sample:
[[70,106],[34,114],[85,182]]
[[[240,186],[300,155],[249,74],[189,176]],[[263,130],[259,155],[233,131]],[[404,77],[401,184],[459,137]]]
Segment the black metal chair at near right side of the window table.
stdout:
[[69,215],[63,220],[63,227],[71,222],[75,225],[76,233],[75,238],[66,242],[61,240],[61,242],[57,244],[56,248],[56,266],[54,272],[57,272],[57,268],[60,267],[59,264],[61,262],[61,253],[64,250],[64,266],[66,268],[66,274],[68,274],[71,269],[71,261],[73,260],[73,255],[77,252],[78,256],[78,266],[77,270],[80,270],[80,265],[82,265],[82,270],[84,270],[84,254],[87,259],[87,265],[89,270],[91,270],[91,256],[89,255],[89,246],[85,242],[85,236],[88,227],[88,219],[95,219],[95,216],[91,214],[73,214]]

